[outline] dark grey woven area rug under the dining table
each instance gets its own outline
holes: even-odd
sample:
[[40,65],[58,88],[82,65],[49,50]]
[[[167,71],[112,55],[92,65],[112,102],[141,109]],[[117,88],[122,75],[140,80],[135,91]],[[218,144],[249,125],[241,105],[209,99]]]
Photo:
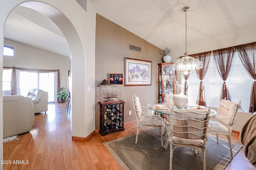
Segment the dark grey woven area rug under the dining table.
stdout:
[[[105,142],[103,145],[123,170],[169,170],[170,145],[165,150],[161,146],[160,133],[158,129],[146,130],[138,135],[138,142],[135,144],[136,134],[122,137],[113,141]],[[166,137],[163,137],[164,142]],[[206,147],[206,170],[223,170],[232,157],[227,140],[210,136]],[[242,148],[242,145],[232,143],[233,154]],[[202,157],[194,154],[193,149],[177,147],[173,152],[173,170],[202,170]]]

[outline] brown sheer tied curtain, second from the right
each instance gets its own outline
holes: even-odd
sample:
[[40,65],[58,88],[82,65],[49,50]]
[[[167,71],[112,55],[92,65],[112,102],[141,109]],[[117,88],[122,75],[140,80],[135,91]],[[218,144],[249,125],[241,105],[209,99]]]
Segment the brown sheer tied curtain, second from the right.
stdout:
[[235,53],[235,47],[229,47],[226,49],[219,49],[219,50],[213,51],[216,67],[218,69],[218,72],[222,80],[224,81],[222,85],[220,100],[224,98],[227,98],[227,100],[230,100],[230,95],[228,92],[228,86],[226,84],[226,80],[230,72],[230,68],[234,58],[234,53]]

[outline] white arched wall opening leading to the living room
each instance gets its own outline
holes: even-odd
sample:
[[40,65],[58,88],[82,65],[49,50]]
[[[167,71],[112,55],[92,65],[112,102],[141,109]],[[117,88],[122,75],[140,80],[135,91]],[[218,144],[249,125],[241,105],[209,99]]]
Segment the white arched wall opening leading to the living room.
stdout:
[[[5,2],[0,7],[0,35],[4,33],[4,24],[10,12],[19,4],[22,4],[23,0],[17,0],[15,2]],[[95,130],[95,116],[94,116],[94,89],[91,88],[90,93],[85,95],[86,86],[94,86],[94,74],[86,70],[90,67],[90,70],[94,70],[95,65],[95,23],[96,12],[91,6],[90,12],[82,11],[82,8],[76,2],[63,2],[62,0],[44,0],[41,2],[26,2],[29,8],[37,10],[42,14],[47,14],[47,10],[54,10],[60,13],[58,18],[54,16],[48,16],[62,31],[71,53],[71,74],[72,74],[72,132],[73,136],[86,137],[92,131]],[[46,5],[48,4],[48,5]],[[24,4],[23,4],[24,5]],[[44,6],[45,8],[40,8]],[[57,10],[58,9],[58,10]],[[82,15],[82,17],[78,17]],[[72,21],[72,22],[71,22]],[[4,37],[0,37],[0,46],[4,45]],[[2,49],[0,49],[2,53]],[[86,55],[90,56],[90,60],[86,60]],[[2,54],[0,54],[1,60],[3,60]],[[3,66],[3,63],[0,63]],[[88,72],[88,73],[86,73]],[[2,71],[0,72],[2,75]],[[90,76],[86,80],[87,76]],[[89,81],[90,80],[90,81]],[[85,86],[86,84],[86,86]],[[2,88],[2,85],[0,85]],[[0,97],[2,94],[0,95]],[[0,98],[2,104],[2,98]],[[2,116],[2,105],[0,106],[0,116]],[[75,122],[75,123],[74,123]],[[0,120],[0,126],[2,127],[2,120]],[[2,136],[2,132],[0,132]],[[0,144],[0,152],[2,152],[2,144]],[[1,154],[2,155],[2,154]],[[0,155],[0,158],[2,156]]]

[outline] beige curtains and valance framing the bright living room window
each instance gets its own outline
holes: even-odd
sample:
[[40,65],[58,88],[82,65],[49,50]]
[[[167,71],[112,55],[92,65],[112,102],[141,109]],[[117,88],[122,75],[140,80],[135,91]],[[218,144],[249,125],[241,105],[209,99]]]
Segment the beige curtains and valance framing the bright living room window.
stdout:
[[11,78],[11,95],[18,94],[18,80],[16,70],[26,71],[26,72],[36,72],[36,73],[48,73],[48,72],[58,72],[57,79],[57,89],[60,91],[60,71],[59,70],[43,70],[43,69],[30,69],[30,68],[18,68],[18,67],[4,67],[4,70],[12,69],[12,78]]

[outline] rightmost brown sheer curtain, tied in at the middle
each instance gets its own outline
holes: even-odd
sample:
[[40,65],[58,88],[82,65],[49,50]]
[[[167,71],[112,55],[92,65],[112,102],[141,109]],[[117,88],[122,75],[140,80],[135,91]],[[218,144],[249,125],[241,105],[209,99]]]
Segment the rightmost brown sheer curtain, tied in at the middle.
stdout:
[[250,77],[254,79],[254,82],[252,83],[249,108],[249,112],[253,113],[256,111],[256,42],[245,45],[238,45],[236,46],[236,49],[238,50],[238,55],[242,64],[244,65],[244,68]]

